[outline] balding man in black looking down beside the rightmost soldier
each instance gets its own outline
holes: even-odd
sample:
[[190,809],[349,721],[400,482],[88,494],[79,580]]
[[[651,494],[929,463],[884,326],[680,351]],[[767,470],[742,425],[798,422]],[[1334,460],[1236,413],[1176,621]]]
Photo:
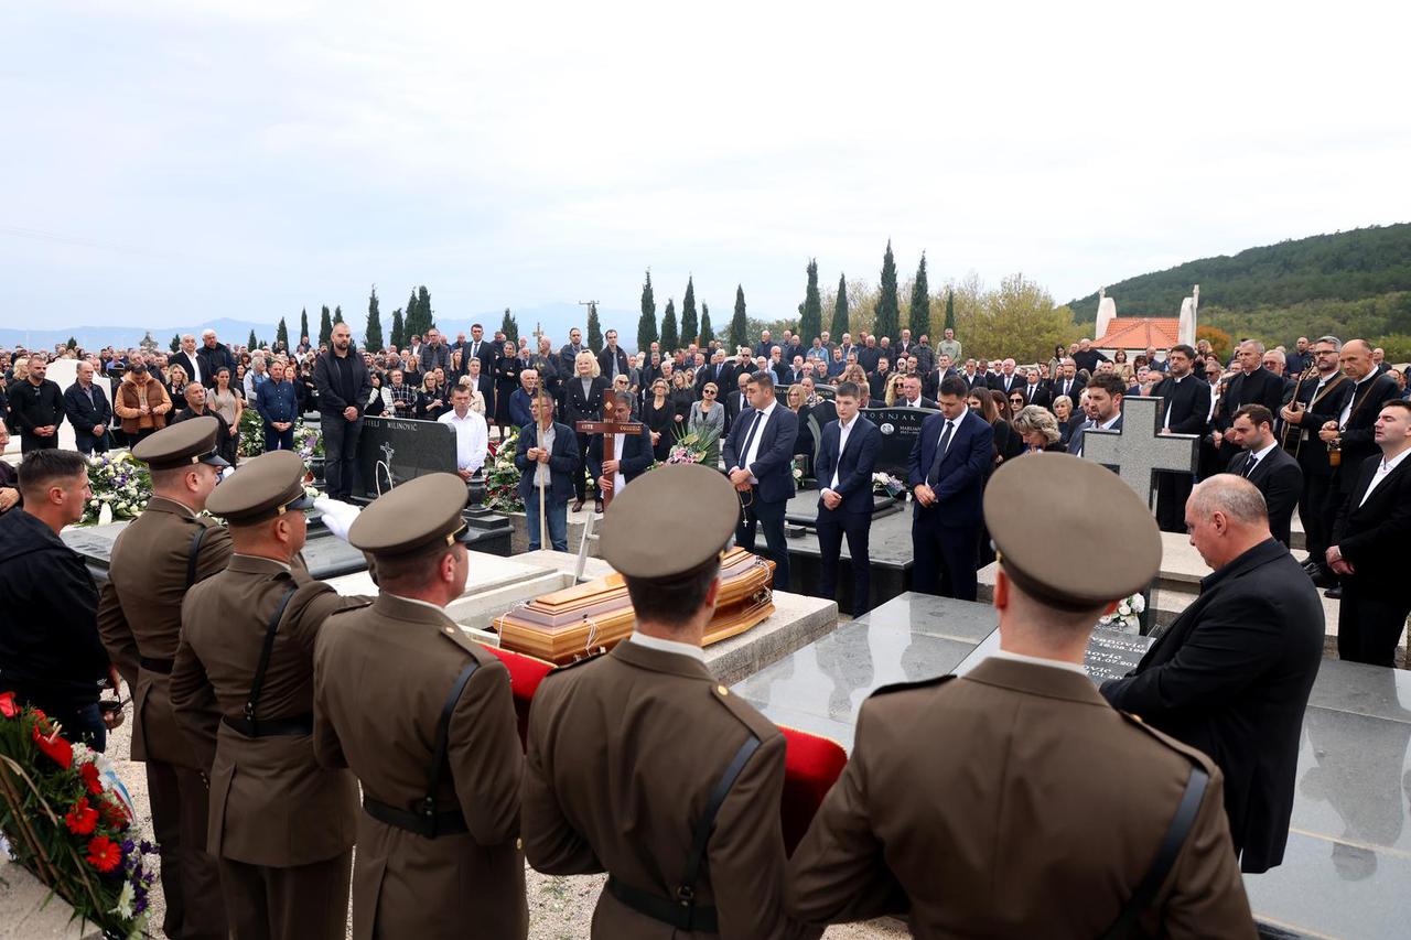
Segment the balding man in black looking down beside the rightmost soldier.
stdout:
[[1322,661],[1322,603],[1270,536],[1249,480],[1205,480],[1185,521],[1215,573],[1136,670],[1102,683],[1102,694],[1215,759],[1240,869],[1264,872],[1288,841],[1304,710]]

